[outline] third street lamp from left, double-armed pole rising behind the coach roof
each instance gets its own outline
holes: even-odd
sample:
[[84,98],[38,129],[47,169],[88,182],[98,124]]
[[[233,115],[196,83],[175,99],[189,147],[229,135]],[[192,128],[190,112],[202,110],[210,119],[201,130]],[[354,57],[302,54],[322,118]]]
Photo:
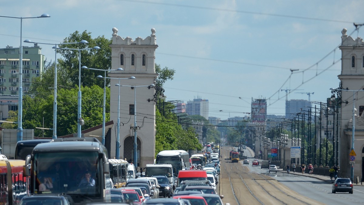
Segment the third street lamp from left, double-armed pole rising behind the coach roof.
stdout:
[[77,94],[77,137],[81,137],[81,125],[84,124],[84,121],[81,117],[81,51],[92,50],[92,49],[100,49],[100,47],[95,46],[93,48],[58,48],[62,50],[72,50],[78,51],[78,94]]

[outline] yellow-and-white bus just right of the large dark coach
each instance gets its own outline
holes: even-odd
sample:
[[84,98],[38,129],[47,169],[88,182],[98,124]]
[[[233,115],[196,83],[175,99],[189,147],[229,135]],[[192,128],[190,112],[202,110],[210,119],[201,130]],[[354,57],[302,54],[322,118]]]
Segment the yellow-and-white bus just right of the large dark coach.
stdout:
[[110,178],[114,188],[120,188],[126,185],[127,165],[128,162],[123,159],[109,159]]

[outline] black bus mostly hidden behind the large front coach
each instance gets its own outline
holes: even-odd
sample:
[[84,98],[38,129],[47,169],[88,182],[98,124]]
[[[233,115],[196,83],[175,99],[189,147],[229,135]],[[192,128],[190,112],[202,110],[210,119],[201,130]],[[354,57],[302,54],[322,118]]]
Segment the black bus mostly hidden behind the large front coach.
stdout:
[[28,154],[32,154],[33,148],[37,144],[50,141],[50,139],[29,139],[17,142],[15,147],[15,159],[25,160]]

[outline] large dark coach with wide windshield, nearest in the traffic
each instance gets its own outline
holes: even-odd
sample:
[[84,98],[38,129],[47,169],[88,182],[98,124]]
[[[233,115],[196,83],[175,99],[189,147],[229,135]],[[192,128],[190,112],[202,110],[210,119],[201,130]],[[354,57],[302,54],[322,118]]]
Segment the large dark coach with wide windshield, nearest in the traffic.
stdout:
[[[68,194],[75,204],[110,202],[107,156],[106,147],[96,138],[58,138],[40,143],[27,156],[23,168],[24,175],[30,176],[29,193]],[[58,164],[62,172],[56,171]],[[93,180],[84,183],[83,178],[90,175]],[[52,186],[45,189],[44,184]]]

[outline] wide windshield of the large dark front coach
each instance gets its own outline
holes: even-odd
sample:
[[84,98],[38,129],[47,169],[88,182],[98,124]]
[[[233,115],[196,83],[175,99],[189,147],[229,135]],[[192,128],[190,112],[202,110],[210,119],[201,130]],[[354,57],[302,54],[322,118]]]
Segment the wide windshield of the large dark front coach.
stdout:
[[36,153],[34,193],[100,194],[100,167],[97,152]]

